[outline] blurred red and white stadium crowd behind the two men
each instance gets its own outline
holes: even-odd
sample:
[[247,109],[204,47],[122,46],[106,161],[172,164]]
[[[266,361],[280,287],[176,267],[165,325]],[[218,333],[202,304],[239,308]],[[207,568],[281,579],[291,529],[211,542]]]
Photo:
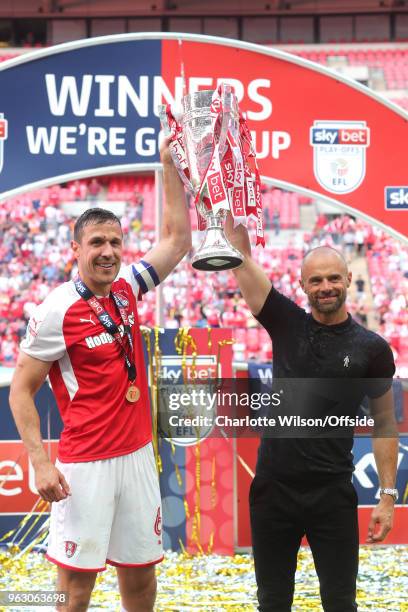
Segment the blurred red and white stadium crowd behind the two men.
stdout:
[[[266,188],[265,188],[266,189]],[[64,213],[61,199],[97,202],[98,181],[75,181],[64,188],[51,187],[3,202],[0,207],[0,363],[15,363],[20,340],[35,304],[75,274],[70,237],[73,218]],[[274,190],[276,191],[276,190]],[[69,196],[69,198],[68,198]],[[125,235],[124,261],[139,259],[154,242],[154,230],[142,229],[140,198],[122,216]],[[347,215],[327,219],[319,215],[314,231],[289,232],[285,245],[274,246],[276,224],[271,223],[265,249],[255,256],[275,286],[305,307],[306,298],[298,278],[304,253],[327,244],[344,250],[352,261],[365,257],[369,287],[358,278],[349,310],[367,323],[370,309],[377,330],[390,342],[396,357],[408,361],[408,250],[381,229]],[[199,237],[196,233],[195,241]],[[282,242],[282,241],[280,241]],[[182,262],[163,286],[166,327],[224,326],[237,330],[241,359],[270,358],[269,342],[250,315],[229,272],[209,274]],[[371,299],[368,299],[368,298]],[[155,295],[140,303],[142,324],[155,324]],[[243,331],[244,330],[244,331]],[[248,330],[248,331],[245,331]]]

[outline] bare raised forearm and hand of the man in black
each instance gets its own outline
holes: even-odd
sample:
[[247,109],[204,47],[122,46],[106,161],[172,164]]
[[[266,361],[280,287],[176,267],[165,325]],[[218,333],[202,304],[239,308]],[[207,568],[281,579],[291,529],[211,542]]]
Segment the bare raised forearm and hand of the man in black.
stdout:
[[242,265],[235,268],[233,272],[250,311],[257,315],[265,304],[272,283],[262,268],[252,259],[251,245],[246,228],[243,225],[238,225],[234,229],[230,214],[228,214],[225,224],[225,235],[232,246],[238,249],[244,257]]

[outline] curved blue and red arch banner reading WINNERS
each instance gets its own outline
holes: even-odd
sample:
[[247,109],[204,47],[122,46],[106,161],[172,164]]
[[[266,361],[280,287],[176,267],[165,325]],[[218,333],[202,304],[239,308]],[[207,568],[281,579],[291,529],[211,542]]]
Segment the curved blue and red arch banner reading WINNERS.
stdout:
[[407,238],[404,110],[280,50],[188,34],[87,39],[2,62],[0,198],[157,169],[159,104],[220,82],[247,114],[266,182]]

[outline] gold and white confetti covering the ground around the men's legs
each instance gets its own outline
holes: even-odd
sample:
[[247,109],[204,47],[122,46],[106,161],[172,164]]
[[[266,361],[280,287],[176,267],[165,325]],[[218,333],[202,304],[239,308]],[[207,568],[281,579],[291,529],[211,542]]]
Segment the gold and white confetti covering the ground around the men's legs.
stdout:
[[[0,590],[50,590],[55,566],[42,553],[16,558],[18,550],[0,551]],[[357,589],[359,612],[408,612],[408,546],[362,546]],[[167,552],[157,567],[155,612],[255,612],[256,584],[252,555],[189,555]],[[117,578],[108,566],[97,579],[90,610],[119,608]],[[8,609],[9,610],[9,609]],[[21,608],[19,609],[21,610]],[[309,549],[298,555],[293,612],[322,610]],[[11,610],[10,610],[11,612]],[[17,611],[18,612],[18,611]]]

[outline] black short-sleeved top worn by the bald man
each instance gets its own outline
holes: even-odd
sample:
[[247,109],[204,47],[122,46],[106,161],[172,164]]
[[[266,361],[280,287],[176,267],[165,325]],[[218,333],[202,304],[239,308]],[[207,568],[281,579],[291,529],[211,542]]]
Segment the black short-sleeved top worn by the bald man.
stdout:
[[[390,347],[350,314],[342,323],[323,325],[272,288],[256,318],[273,342],[273,380],[275,390],[279,390],[277,381],[280,390],[285,389],[284,412],[356,416],[365,395],[380,397],[390,388],[395,372]],[[289,380],[294,378],[296,381]],[[325,389],[322,399],[325,387],[330,390]],[[313,428],[306,437],[306,430],[300,428],[302,437],[290,437],[290,431],[289,437],[264,437],[257,473],[294,481],[351,474],[352,431],[344,437],[344,430],[339,429],[339,437],[322,435],[322,430],[313,432]]]

